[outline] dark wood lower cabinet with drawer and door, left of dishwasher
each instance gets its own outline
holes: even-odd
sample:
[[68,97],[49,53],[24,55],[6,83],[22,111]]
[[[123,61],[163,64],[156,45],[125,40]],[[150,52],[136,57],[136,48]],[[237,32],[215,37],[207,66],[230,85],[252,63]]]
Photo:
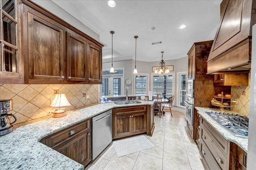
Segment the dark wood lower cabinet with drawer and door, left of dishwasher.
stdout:
[[56,132],[41,143],[86,166],[92,160],[90,119]]

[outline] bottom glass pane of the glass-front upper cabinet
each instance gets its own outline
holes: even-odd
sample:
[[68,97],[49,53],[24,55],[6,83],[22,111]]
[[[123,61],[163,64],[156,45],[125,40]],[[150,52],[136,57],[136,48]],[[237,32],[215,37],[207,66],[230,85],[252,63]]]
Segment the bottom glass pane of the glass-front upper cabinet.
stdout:
[[2,71],[18,72],[16,49],[4,45],[2,56]]

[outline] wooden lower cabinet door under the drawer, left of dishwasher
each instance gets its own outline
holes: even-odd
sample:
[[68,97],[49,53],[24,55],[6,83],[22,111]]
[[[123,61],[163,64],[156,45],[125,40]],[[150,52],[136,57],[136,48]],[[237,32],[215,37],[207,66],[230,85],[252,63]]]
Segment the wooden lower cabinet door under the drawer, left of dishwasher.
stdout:
[[56,150],[84,166],[87,165],[92,160],[90,130]]

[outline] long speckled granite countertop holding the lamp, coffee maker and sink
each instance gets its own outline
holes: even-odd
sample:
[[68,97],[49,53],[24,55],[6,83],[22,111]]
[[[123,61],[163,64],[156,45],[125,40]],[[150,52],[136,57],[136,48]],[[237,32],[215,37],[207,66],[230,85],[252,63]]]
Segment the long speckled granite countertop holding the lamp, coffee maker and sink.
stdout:
[[48,118],[14,129],[0,137],[1,170],[82,170],[84,166],[40,143],[40,139],[94,117],[114,107],[152,105],[153,101],[141,100],[141,104],[97,104],[76,111],[68,111],[60,118]]

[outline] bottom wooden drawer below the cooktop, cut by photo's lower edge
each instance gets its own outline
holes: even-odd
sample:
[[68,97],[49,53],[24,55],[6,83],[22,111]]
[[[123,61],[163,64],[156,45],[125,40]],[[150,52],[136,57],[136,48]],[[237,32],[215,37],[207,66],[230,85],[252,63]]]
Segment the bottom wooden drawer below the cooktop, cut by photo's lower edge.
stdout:
[[216,163],[212,160],[212,156],[208,149],[206,149],[204,143],[201,142],[200,144],[200,150],[201,150],[201,156],[203,157],[204,161],[206,162],[206,165],[208,166],[208,169],[210,170],[220,170],[220,167],[216,165]]

